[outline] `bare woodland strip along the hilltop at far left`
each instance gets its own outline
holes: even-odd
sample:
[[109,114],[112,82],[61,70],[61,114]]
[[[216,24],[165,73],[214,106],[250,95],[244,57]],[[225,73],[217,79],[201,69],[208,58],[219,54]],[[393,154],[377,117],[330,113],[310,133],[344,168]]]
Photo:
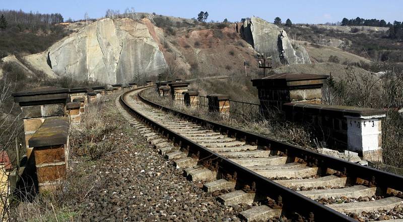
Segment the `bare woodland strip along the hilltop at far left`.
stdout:
[[33,12],[23,12],[15,10],[0,10],[2,23],[9,27],[18,26],[22,29],[37,30],[39,28],[49,28],[51,25],[63,22],[60,13],[42,14]]

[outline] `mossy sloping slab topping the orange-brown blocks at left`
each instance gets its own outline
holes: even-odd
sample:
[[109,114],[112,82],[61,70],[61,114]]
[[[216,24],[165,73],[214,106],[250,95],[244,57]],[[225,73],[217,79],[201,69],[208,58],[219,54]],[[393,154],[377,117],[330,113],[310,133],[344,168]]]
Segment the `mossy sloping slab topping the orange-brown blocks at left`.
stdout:
[[48,118],[32,135],[30,147],[54,146],[66,144],[69,135],[69,120],[65,117]]

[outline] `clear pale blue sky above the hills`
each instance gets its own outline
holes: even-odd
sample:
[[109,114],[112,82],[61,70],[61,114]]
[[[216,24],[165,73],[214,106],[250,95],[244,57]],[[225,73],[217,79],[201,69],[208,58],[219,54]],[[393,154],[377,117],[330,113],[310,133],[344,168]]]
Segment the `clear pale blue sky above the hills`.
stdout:
[[[253,3],[253,4],[252,4]],[[200,11],[208,11],[209,21],[240,21],[241,18],[258,16],[273,22],[279,16],[283,22],[290,18],[293,23],[325,23],[341,21],[344,17],[377,18],[386,22],[403,21],[401,0],[286,0],[286,1],[183,1],[183,0],[0,0],[2,9],[22,9],[25,12],[61,13],[64,20],[83,19],[105,15],[107,9],[120,10],[134,7],[136,12],[155,12],[181,18],[196,17]]]

